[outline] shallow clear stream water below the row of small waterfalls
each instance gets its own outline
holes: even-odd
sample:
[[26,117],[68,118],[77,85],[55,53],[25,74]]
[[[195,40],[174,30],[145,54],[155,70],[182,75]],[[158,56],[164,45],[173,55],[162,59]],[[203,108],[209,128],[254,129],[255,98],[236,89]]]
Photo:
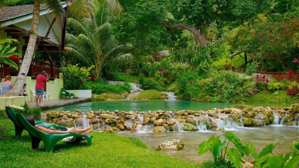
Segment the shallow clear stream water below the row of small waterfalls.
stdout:
[[[280,142],[273,150],[274,154],[282,153],[285,155],[287,152],[291,152],[288,145],[292,145],[292,141],[298,141],[299,127],[298,126],[263,126],[263,127],[239,127],[233,132],[242,142],[242,144],[251,142],[258,153],[262,151],[264,147],[270,143],[276,144]],[[147,146],[153,150],[156,150],[160,143],[165,140],[180,139],[184,142],[185,146],[182,150],[161,150],[160,152],[183,158],[191,162],[202,162],[203,160],[208,160],[211,158],[211,154],[207,152],[202,156],[198,156],[198,146],[204,141],[208,140],[210,136],[222,135],[221,131],[198,131],[198,132],[165,132],[165,133],[129,133],[122,132],[118,135],[120,136],[132,136],[142,140]],[[220,138],[223,142],[224,137]],[[245,158],[246,161],[251,158]]]

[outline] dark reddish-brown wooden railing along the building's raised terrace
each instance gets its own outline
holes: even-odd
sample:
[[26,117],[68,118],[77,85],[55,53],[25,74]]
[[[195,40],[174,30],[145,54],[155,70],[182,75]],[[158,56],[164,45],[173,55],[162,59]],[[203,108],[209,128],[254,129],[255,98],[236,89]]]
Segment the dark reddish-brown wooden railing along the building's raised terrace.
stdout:
[[[21,58],[22,59],[22,58]],[[22,63],[17,63],[19,66],[19,69],[22,65]],[[42,73],[42,71],[46,71],[48,73],[49,79],[59,79],[59,68],[60,65],[54,65],[38,60],[34,60],[31,62],[31,65],[29,67],[29,71],[27,76],[29,77],[36,77],[38,74]],[[5,78],[6,75],[10,76],[17,76],[19,74],[19,71],[15,68],[11,68],[7,64],[0,64],[0,77]]]

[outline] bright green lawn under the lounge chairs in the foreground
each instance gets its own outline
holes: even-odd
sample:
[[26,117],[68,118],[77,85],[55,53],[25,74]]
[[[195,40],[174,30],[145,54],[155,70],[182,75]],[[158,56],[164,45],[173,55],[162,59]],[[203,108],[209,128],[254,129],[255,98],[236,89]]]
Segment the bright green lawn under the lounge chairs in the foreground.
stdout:
[[[45,152],[41,141],[39,149],[31,149],[27,131],[14,137],[14,126],[8,118],[0,118],[7,128],[7,139],[0,141],[0,165],[3,167],[201,167],[188,161],[153,151],[140,140],[103,132],[91,132],[92,145],[59,141],[53,152]],[[158,146],[158,144],[157,144]]]

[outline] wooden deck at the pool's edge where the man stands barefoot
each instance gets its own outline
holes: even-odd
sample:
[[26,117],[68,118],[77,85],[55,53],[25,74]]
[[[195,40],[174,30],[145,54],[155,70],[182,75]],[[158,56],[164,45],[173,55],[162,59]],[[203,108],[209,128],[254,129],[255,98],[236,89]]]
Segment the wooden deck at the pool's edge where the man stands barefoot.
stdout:
[[44,105],[42,107],[36,106],[35,102],[28,103],[28,105],[30,109],[36,109],[36,108],[49,109],[53,107],[60,107],[60,106],[65,106],[65,105],[70,105],[75,103],[87,102],[90,100],[91,98],[51,99],[48,101],[42,101],[42,105]]

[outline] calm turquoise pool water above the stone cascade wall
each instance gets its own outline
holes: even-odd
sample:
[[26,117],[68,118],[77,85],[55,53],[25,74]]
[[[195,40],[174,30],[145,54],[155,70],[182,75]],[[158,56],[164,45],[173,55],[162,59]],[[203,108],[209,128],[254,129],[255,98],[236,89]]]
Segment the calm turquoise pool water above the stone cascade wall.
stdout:
[[[237,103],[209,103],[209,102],[192,102],[184,100],[106,100],[99,102],[84,102],[77,103],[68,106],[56,107],[51,109],[45,109],[43,112],[53,111],[71,111],[81,110],[82,112],[98,111],[103,109],[105,111],[154,111],[154,110],[167,110],[167,111],[179,111],[179,110],[210,110],[213,108],[229,108],[231,105]],[[245,103],[250,106],[263,106],[263,107],[289,107],[290,104],[267,104],[267,103]]]

